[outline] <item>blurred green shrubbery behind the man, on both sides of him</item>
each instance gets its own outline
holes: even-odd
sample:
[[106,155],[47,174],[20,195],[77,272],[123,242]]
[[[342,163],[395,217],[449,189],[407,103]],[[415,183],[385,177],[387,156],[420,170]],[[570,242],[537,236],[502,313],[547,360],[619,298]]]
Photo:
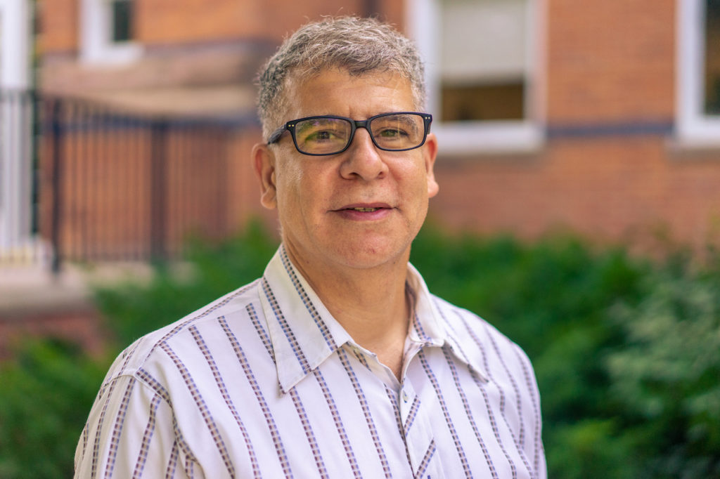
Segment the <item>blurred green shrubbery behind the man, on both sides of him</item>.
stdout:
[[[195,242],[189,273],[158,265],[144,286],[98,291],[117,336],[110,355],[257,278],[276,246],[251,224],[222,245]],[[528,352],[549,477],[694,479],[720,478],[719,258],[697,268],[686,255],[650,262],[569,235],[526,244],[428,224],[411,260],[433,293]],[[53,344],[0,368],[0,478],[68,475],[105,368]]]

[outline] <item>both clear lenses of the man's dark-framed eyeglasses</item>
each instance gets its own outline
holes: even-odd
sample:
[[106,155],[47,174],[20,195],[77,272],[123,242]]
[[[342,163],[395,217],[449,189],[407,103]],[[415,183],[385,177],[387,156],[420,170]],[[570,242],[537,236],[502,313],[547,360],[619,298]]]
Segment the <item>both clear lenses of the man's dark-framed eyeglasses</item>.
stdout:
[[[352,124],[340,118],[312,118],[297,122],[294,137],[297,149],[312,155],[332,155],[352,140]],[[373,118],[367,126],[382,150],[408,150],[425,139],[425,123],[419,114],[390,114]]]

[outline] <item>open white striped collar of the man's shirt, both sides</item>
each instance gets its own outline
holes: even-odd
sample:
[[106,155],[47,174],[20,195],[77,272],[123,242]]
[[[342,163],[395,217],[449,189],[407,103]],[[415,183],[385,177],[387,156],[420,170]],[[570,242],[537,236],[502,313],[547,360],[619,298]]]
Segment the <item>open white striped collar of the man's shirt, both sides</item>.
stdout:
[[[468,354],[459,336],[438,311],[437,298],[418,270],[408,264],[408,286],[415,297],[408,339],[425,347],[449,347],[457,359],[481,373],[482,362]],[[287,393],[339,347],[353,339],[325,308],[292,265],[284,245],[276,251],[258,283],[261,305],[274,352],[279,390]]]

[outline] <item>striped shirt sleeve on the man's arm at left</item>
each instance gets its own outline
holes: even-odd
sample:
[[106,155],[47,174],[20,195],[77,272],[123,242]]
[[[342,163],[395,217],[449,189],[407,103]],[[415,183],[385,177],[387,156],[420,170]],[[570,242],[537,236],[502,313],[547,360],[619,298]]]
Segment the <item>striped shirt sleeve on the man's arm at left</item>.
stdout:
[[75,478],[203,478],[166,393],[133,375],[102,386],[75,452]]

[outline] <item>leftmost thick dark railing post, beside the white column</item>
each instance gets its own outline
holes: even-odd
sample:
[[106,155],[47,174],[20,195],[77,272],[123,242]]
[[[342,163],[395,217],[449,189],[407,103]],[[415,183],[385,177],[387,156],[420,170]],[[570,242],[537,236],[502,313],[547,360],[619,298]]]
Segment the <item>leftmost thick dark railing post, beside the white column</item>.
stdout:
[[50,109],[50,132],[52,135],[51,152],[53,158],[53,176],[51,184],[53,188],[53,204],[50,210],[50,243],[53,247],[53,257],[50,262],[50,269],[57,275],[60,273],[60,267],[63,260],[63,252],[60,249],[62,243],[60,241],[60,229],[62,220],[62,199],[61,191],[63,184],[63,125],[60,120],[63,114],[63,106],[60,99],[52,102]]

